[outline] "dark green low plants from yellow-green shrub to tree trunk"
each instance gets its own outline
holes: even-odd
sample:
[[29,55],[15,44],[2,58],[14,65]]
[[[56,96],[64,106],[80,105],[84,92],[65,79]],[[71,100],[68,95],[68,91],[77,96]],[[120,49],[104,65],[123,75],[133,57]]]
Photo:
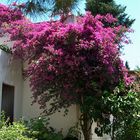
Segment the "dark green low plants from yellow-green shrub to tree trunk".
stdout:
[[69,129],[66,137],[61,132],[49,126],[49,119],[46,117],[38,117],[25,122],[27,131],[26,135],[37,140],[78,140],[80,129],[78,125]]

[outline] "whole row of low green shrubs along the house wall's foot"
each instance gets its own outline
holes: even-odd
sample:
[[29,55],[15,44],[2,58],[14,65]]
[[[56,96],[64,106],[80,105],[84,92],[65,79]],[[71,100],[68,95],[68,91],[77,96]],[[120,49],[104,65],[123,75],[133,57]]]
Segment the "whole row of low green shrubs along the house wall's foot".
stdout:
[[49,127],[49,119],[39,117],[10,124],[4,113],[0,115],[0,140],[78,140],[77,132],[72,127],[64,138],[61,132]]

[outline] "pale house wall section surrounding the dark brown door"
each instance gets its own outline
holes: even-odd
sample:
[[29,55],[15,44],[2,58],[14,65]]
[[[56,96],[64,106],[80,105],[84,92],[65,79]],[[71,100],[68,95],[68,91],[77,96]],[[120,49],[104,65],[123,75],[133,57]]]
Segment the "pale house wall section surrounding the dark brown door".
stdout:
[[22,72],[21,63],[11,60],[11,56],[0,50],[0,111],[2,103],[2,84],[15,87],[14,91],[14,118],[22,116]]

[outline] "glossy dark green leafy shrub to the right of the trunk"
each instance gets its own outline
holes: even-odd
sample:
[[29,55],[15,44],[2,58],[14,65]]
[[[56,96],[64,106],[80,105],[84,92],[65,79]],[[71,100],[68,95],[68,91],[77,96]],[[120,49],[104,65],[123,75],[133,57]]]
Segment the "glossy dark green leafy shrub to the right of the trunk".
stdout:
[[[104,133],[109,134],[112,140],[137,140],[140,138],[139,95],[131,89],[124,89],[122,84],[120,86],[114,90],[113,94],[105,92],[102,96],[102,110],[105,112],[95,132],[99,136]],[[106,111],[110,112],[111,117]]]

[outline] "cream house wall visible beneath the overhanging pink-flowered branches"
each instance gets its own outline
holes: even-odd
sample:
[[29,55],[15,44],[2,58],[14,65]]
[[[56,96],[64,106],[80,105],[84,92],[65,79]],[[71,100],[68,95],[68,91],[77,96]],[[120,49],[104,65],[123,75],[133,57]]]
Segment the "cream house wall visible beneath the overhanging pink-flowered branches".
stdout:
[[[34,118],[40,115],[43,110],[39,109],[38,104],[32,103],[32,93],[29,87],[29,81],[24,82],[23,88],[23,117],[25,119]],[[63,111],[57,112],[50,116],[50,126],[55,128],[57,131],[62,131],[64,135],[67,134],[68,129],[74,126],[77,122],[77,108],[72,106],[69,108],[69,113],[64,116]]]

